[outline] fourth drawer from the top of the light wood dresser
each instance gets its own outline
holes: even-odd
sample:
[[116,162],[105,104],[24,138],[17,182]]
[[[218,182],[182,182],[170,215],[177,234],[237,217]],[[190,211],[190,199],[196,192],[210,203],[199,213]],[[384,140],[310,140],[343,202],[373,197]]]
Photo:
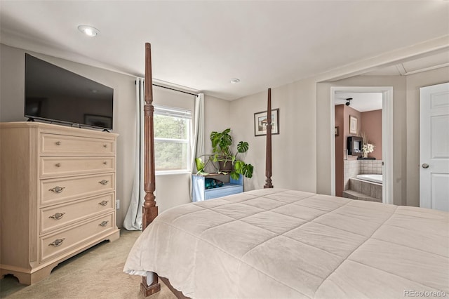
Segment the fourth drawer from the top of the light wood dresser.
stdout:
[[69,204],[41,208],[41,234],[70,225],[81,219],[90,218],[98,213],[114,211],[114,195],[114,193],[109,193],[72,201]]

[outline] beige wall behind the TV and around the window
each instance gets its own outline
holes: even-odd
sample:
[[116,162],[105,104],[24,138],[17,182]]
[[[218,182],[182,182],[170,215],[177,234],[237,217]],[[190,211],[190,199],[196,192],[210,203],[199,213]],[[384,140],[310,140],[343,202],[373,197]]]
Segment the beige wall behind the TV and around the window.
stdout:
[[[76,72],[101,84],[114,88],[114,133],[119,133],[117,140],[117,180],[116,199],[121,207],[117,210],[117,225],[123,225],[128,210],[134,179],[135,144],[135,77],[111,72],[97,67],[90,67],[51,56],[33,53],[60,67]],[[25,85],[25,50],[0,44],[0,121],[26,121],[24,110]],[[154,104],[185,107],[194,110],[194,96],[170,91],[166,88],[154,88]],[[228,126],[229,105],[226,100],[206,96],[205,126],[207,129]],[[210,133],[210,132],[209,132]],[[208,135],[206,135],[206,145]],[[190,175],[156,175],[156,201],[159,211],[190,201]]]

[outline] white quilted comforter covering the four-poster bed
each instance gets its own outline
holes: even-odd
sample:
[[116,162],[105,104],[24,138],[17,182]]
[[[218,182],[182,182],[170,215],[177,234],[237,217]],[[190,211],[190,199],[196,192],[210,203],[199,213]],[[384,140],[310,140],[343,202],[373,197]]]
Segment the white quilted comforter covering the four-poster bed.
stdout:
[[255,190],[161,213],[124,271],[191,298],[449,297],[449,213]]

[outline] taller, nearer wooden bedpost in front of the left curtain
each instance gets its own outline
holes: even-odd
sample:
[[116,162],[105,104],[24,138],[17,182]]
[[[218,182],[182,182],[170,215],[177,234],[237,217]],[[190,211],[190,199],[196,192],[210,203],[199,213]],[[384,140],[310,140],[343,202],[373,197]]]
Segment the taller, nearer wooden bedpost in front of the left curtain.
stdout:
[[[154,107],[153,102],[153,77],[152,77],[152,46],[149,43],[145,44],[145,155],[144,155],[144,190],[145,202],[142,210],[142,230],[156,218],[158,208],[156,206],[156,197],[154,190],[156,190],[156,178],[154,169]],[[142,284],[140,284],[140,291],[145,297],[161,291],[161,284],[156,273],[152,274],[152,283],[147,284],[147,277],[142,277]]]

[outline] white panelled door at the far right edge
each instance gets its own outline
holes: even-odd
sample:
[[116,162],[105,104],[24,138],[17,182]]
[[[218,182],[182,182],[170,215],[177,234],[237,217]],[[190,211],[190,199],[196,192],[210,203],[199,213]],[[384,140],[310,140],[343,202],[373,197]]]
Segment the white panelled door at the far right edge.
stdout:
[[420,88],[420,206],[449,211],[449,83]]

